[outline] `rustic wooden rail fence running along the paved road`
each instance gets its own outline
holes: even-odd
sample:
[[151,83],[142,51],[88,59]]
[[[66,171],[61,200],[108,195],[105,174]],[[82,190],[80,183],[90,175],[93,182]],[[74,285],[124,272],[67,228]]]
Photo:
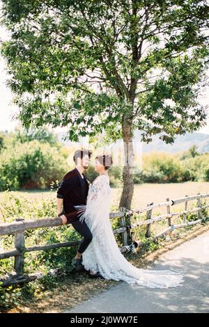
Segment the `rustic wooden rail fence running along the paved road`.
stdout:
[[[158,239],[159,237],[163,237],[168,232],[173,232],[178,228],[185,228],[186,226],[195,225],[198,223],[202,223],[206,221],[208,218],[207,215],[202,216],[203,209],[207,209],[209,205],[202,205],[202,199],[208,199],[209,194],[196,194],[194,196],[185,196],[185,198],[179,198],[176,200],[166,199],[166,202],[160,202],[157,204],[153,204],[153,202],[148,203],[147,207],[144,209],[134,209],[127,210],[125,208],[120,208],[118,212],[111,212],[109,215],[110,219],[120,218],[121,224],[120,228],[114,230],[114,234],[121,234],[123,247],[121,248],[121,253],[129,252],[136,248],[137,246],[142,246],[143,242],[136,241],[132,239],[132,232],[134,228],[138,226],[145,225],[146,226],[146,239],[151,239],[151,226],[159,221],[167,220],[167,229],[160,234],[156,234],[153,239]],[[187,205],[189,201],[196,200],[196,207],[194,209],[187,209]],[[185,209],[180,212],[171,212],[171,207],[175,205],[179,205],[180,203],[185,203]],[[167,214],[162,214],[160,216],[153,217],[153,209],[159,207],[166,207]],[[207,211],[206,211],[207,212]],[[140,220],[132,223],[132,216],[137,214],[146,213],[146,219]],[[187,221],[188,214],[195,214],[196,219],[194,221]],[[180,224],[172,224],[172,218],[176,216],[183,216],[183,223]],[[140,218],[140,217],[139,217]],[[24,275],[24,253],[29,253],[33,251],[45,251],[53,248],[61,248],[68,246],[77,246],[79,244],[78,241],[69,241],[64,243],[56,243],[50,245],[41,245],[41,246],[33,246],[30,248],[26,248],[25,246],[25,237],[24,233],[26,230],[33,230],[36,228],[52,228],[56,226],[61,226],[61,218],[44,218],[44,219],[36,219],[25,221],[22,218],[16,218],[13,223],[1,223],[0,224],[0,235],[15,235],[15,244],[14,248],[11,250],[4,250],[0,253],[0,260],[15,257],[14,262],[14,272],[8,274],[7,276],[0,276],[0,282],[3,286],[20,284],[22,282],[29,282],[31,280],[35,280],[38,278],[38,273],[29,274],[28,276]]]

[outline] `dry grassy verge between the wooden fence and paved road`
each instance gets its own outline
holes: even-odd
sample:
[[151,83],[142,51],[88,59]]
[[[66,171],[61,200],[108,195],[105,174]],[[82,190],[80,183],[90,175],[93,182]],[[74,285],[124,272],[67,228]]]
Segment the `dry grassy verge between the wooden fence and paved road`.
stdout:
[[[197,237],[203,232],[209,230],[209,225],[194,226],[189,230],[187,235],[180,239],[173,238],[172,242],[164,244],[164,246],[155,250],[154,252],[141,253],[139,249],[137,253],[125,254],[126,259],[138,268],[146,268],[152,266],[160,255],[172,250],[176,246],[183,244],[189,239]],[[35,282],[33,282],[35,283]],[[13,308],[6,310],[7,313],[58,313],[71,310],[82,301],[88,301],[92,296],[101,294],[110,287],[114,287],[121,283],[116,280],[92,280],[86,276],[86,273],[77,273],[71,276],[63,276],[55,278],[54,287],[52,289],[45,289],[44,287],[39,292],[32,292],[29,286],[27,289],[27,296],[22,298],[21,303],[17,303]],[[30,283],[31,284],[31,283]],[[1,312],[1,308],[0,308]]]

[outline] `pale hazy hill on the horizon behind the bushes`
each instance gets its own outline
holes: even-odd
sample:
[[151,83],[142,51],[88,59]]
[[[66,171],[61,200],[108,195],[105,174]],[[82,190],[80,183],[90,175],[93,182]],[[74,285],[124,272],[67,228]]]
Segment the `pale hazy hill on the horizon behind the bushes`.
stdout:
[[[57,133],[56,134],[59,141],[61,141],[66,146],[70,146],[73,142],[70,141],[63,141],[63,136],[65,133]],[[134,132],[134,141],[140,141],[140,131]],[[157,136],[153,136],[153,141],[151,143],[142,143],[142,151],[143,152],[169,152],[169,153],[176,153],[187,151],[189,147],[192,145],[196,145],[198,147],[199,152],[209,152],[209,134],[202,134],[202,133],[191,133],[180,135],[176,137],[176,141],[171,144],[166,144],[161,141]]]

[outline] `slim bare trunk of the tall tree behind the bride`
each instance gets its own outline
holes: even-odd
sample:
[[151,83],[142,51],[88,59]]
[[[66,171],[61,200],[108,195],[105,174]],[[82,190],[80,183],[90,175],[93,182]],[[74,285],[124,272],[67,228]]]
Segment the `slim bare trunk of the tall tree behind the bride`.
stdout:
[[119,207],[130,209],[134,193],[134,147],[132,143],[132,123],[123,120],[123,146],[124,146],[124,167],[123,167],[123,192]]

